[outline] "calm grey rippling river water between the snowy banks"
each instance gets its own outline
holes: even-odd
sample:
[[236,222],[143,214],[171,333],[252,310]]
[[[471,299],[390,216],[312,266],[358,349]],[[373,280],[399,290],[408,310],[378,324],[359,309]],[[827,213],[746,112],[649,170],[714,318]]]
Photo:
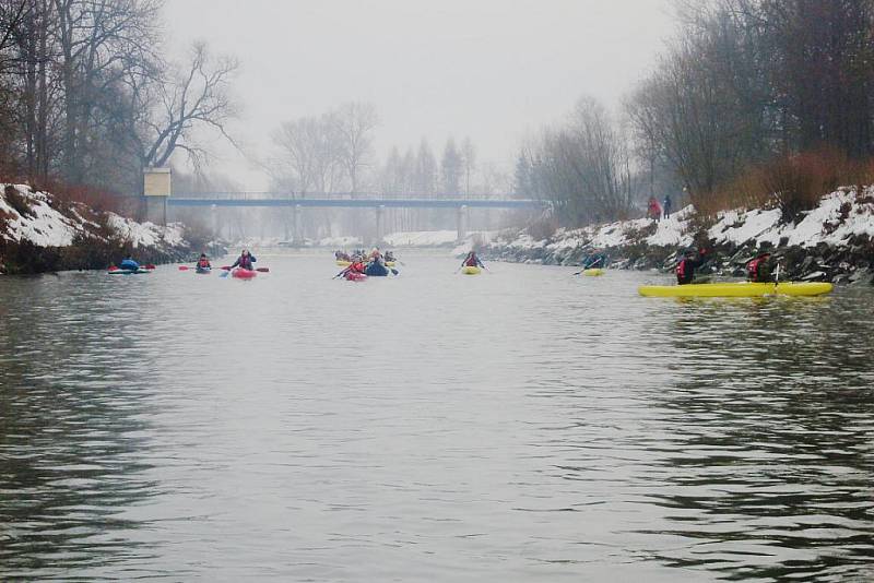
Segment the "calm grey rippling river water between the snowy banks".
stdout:
[[0,279],[0,580],[870,581],[874,293]]

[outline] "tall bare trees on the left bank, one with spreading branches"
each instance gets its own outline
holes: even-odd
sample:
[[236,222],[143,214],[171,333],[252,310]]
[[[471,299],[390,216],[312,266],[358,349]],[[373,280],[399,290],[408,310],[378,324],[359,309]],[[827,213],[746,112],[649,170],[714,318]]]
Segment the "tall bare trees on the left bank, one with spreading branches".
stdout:
[[[162,50],[160,0],[0,0],[0,172],[5,180],[139,194],[142,170],[228,138],[238,68],[194,44]],[[200,140],[198,139],[200,134]]]

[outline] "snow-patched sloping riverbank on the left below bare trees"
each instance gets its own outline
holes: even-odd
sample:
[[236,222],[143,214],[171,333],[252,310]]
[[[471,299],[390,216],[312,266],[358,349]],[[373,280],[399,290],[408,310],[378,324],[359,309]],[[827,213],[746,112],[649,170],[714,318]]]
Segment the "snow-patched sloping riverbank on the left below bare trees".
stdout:
[[105,269],[127,253],[143,263],[182,261],[205,245],[181,224],[138,223],[24,185],[0,185],[2,273]]

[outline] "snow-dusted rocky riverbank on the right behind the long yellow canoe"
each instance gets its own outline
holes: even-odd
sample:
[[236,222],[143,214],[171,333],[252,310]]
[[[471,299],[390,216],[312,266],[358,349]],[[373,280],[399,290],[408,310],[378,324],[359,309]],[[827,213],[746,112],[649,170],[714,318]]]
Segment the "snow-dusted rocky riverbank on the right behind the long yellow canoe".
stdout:
[[724,211],[712,217],[692,206],[661,221],[638,218],[581,229],[559,229],[535,240],[527,230],[505,231],[483,248],[500,261],[579,265],[603,251],[611,266],[671,271],[689,247],[707,249],[700,270],[743,276],[763,248],[772,250],[787,277],[874,284],[874,188],[841,188],[795,219],[779,209]]

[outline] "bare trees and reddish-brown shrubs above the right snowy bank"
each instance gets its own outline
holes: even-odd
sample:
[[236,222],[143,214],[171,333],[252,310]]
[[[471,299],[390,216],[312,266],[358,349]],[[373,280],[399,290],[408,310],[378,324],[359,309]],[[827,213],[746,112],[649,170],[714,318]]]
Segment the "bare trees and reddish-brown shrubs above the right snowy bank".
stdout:
[[[545,132],[520,156],[521,191],[555,200],[569,222],[619,216],[628,192],[682,190],[705,210],[770,197],[791,214],[866,171],[873,0],[689,1],[678,23],[622,123]],[[594,155],[602,136],[616,152]]]

